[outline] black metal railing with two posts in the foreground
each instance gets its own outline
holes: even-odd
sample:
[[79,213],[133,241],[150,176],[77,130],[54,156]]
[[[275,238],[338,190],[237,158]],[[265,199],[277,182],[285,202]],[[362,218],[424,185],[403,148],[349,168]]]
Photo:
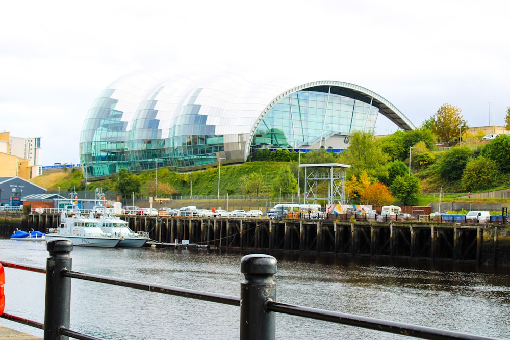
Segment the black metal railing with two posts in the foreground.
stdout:
[[273,275],[276,274],[277,262],[273,256],[269,255],[252,254],[242,258],[241,272],[244,274],[244,280],[241,282],[241,296],[235,297],[75,272],[71,270],[71,241],[67,239],[53,239],[47,242],[46,247],[49,252],[46,268],[0,261],[0,264],[4,267],[46,273],[44,324],[7,313],[2,315],[4,319],[43,329],[45,340],[64,340],[69,337],[83,340],[101,340],[97,337],[69,329],[72,278],[240,306],[239,330],[240,338],[243,340],[275,339],[276,313],[285,313],[423,339],[490,339],[465,333],[276,302],[276,283],[273,281]]

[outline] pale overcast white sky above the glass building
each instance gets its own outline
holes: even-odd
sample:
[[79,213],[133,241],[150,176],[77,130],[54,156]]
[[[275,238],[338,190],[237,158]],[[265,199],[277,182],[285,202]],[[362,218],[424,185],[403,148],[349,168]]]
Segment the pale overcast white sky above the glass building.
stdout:
[[[9,1],[0,12],[0,132],[80,163],[92,102],[135,70],[286,69],[367,88],[419,127],[444,103],[503,125],[510,2]],[[379,115],[375,134],[397,126]]]

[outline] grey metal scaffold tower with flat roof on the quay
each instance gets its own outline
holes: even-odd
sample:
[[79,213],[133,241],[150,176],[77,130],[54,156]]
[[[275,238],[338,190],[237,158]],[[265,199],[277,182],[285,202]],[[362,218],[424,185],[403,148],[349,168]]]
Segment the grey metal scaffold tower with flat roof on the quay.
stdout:
[[300,164],[304,168],[304,203],[345,204],[345,169],[340,163]]

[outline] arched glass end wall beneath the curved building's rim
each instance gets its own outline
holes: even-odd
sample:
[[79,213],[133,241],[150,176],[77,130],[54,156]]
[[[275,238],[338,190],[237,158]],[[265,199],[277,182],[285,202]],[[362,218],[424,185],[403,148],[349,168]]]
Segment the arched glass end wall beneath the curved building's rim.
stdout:
[[353,130],[374,129],[379,113],[376,107],[328,90],[325,93],[320,89],[305,89],[278,101],[259,124],[251,149],[310,146],[337,149],[343,145],[331,137],[347,137]]

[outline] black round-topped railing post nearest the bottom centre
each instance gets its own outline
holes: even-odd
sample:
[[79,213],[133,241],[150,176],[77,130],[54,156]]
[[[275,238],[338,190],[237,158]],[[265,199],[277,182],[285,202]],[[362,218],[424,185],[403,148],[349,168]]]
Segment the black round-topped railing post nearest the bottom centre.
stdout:
[[241,259],[241,325],[240,339],[274,340],[276,317],[265,309],[268,300],[276,300],[277,262],[273,256],[264,254],[246,255]]

